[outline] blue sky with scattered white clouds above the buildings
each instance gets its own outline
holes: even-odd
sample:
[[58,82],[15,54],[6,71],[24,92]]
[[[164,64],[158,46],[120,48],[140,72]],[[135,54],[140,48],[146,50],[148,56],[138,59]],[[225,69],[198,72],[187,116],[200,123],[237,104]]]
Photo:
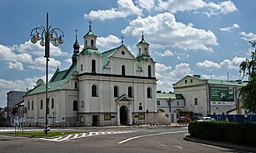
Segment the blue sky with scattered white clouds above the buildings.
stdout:
[[103,52],[124,45],[137,55],[142,32],[155,63],[157,90],[173,91],[186,75],[237,80],[239,64],[250,58],[256,40],[255,0],[1,0],[0,107],[8,91],[26,91],[45,80],[44,47],[33,44],[37,26],[64,32],[64,43],[50,44],[49,78],[68,69],[75,30],[83,47],[89,21]]

